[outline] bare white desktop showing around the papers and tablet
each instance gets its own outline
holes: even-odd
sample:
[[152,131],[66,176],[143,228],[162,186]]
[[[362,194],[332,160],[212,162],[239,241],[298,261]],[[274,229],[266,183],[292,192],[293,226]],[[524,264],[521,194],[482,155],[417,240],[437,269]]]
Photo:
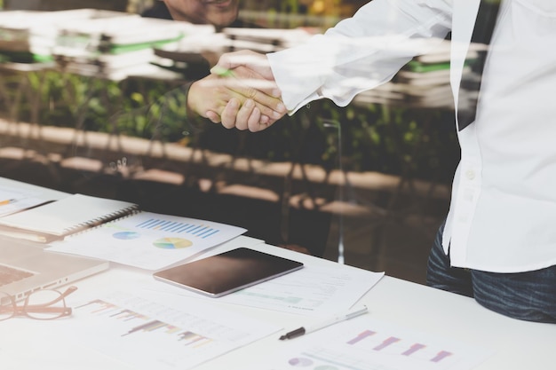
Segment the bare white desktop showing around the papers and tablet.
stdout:
[[[250,239],[246,238],[246,240]],[[227,248],[226,245],[221,246],[212,250],[210,254]],[[307,265],[349,268],[263,243],[250,248],[298,259]],[[77,282],[75,285],[79,289],[68,297],[68,304],[76,302],[81,294],[101,291],[117,281],[140,284],[146,279],[152,279],[148,272],[114,265],[107,272]],[[477,366],[477,370],[552,370],[556,366],[556,350],[554,350],[556,326],[509,319],[482,308],[473,299],[465,296],[386,276],[361,298],[361,303],[367,304],[369,315],[373,318],[493,350],[494,354]],[[257,319],[270,320],[281,325],[283,329],[276,335],[270,335],[249,346],[234,350],[195,369],[235,370],[242,369],[247,358],[264,360],[276,350],[280,342],[278,336],[310,321],[306,316],[230,305],[220,303],[218,300],[215,300],[214,304]],[[34,369],[37,366],[42,370],[133,368],[114,358],[99,354],[91,348],[70,342],[68,338],[61,338],[56,331],[59,322],[56,320],[39,322],[21,318],[0,322],[0,368],[3,370]]]

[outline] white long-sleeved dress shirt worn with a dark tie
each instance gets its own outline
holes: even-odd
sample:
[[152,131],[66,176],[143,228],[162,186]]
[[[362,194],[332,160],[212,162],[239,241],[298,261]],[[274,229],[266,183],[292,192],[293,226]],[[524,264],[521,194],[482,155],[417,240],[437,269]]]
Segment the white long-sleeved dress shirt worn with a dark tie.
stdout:
[[[374,0],[306,45],[268,54],[285,105],[346,106],[451,29],[457,106],[479,3]],[[476,121],[458,132],[442,244],[457,267],[533,271],[556,264],[556,1],[503,0],[491,45]]]

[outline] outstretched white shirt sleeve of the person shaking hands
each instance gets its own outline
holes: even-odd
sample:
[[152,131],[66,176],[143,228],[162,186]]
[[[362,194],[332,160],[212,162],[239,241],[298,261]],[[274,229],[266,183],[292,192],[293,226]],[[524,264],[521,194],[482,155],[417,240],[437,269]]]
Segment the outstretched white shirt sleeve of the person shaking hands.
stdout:
[[267,54],[290,114],[319,98],[346,106],[392,79],[451,28],[451,0],[373,0],[307,43]]

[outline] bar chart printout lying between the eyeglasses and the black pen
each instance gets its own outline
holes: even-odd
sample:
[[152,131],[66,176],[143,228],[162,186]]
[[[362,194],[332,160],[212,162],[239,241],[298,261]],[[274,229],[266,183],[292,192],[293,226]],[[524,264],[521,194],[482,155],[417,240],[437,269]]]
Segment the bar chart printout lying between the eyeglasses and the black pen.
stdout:
[[191,368],[280,328],[195,304],[121,292],[94,298],[74,307],[73,336],[138,369],[164,370]]

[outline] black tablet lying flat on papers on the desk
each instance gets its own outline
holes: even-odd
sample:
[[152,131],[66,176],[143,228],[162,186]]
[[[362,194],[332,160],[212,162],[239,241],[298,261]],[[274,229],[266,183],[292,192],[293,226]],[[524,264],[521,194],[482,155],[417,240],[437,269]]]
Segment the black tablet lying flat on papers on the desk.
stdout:
[[302,267],[302,263],[287,258],[237,248],[155,272],[153,276],[202,295],[218,297]]

